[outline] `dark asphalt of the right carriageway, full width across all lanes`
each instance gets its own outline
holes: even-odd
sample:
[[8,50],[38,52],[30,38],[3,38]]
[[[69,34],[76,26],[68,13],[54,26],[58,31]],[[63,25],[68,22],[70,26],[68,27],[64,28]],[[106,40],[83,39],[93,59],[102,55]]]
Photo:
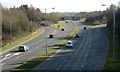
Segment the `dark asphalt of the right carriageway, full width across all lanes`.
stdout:
[[108,39],[101,28],[83,30],[78,24],[79,38],[72,38],[73,48],[63,46],[57,53],[35,67],[31,72],[82,72],[102,70],[108,52]]

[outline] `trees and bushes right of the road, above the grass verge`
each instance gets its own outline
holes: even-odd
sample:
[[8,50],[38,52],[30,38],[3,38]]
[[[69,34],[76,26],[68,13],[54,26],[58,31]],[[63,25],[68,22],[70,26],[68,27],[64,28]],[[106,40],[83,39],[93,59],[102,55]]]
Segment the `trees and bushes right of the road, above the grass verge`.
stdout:
[[[93,11],[93,12],[79,12],[75,17],[80,19],[86,18],[85,23],[89,25],[107,24],[107,31],[113,33],[113,12],[114,5],[111,5],[104,11]],[[119,37],[120,41],[120,8],[115,8],[115,33]]]

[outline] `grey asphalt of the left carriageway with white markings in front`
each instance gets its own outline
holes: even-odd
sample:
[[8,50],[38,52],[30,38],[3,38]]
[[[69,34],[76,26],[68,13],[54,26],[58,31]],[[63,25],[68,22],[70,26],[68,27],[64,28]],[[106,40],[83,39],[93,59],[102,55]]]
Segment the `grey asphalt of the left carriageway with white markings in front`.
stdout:
[[[69,27],[68,27],[69,26]],[[45,28],[43,28],[45,29]],[[12,70],[19,65],[23,64],[24,62],[32,59],[33,57],[37,56],[41,52],[45,51],[46,49],[46,32],[47,36],[49,34],[53,34],[53,39],[47,39],[48,47],[54,45],[62,38],[66,37],[68,33],[70,33],[73,29],[73,25],[71,22],[65,24],[65,31],[54,30],[52,28],[47,28],[47,31],[44,31],[37,37],[33,38],[32,40],[24,43],[29,46],[29,51],[27,52],[19,52],[18,47],[15,47],[9,51],[2,53],[2,70]]]

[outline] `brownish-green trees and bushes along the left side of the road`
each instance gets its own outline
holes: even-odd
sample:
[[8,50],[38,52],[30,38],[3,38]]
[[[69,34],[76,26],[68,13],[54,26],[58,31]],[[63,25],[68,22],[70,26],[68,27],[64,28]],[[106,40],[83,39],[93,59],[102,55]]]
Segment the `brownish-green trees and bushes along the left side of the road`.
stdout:
[[[47,14],[47,25],[55,24],[58,18],[53,14]],[[32,5],[21,5],[10,9],[2,7],[2,44],[10,41],[10,23],[12,41],[20,39],[45,26],[45,13]]]

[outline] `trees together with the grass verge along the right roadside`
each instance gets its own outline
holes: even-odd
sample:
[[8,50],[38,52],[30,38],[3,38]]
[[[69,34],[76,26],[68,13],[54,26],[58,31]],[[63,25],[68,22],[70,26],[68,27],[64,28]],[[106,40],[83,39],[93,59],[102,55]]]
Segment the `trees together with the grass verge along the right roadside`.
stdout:
[[[88,28],[93,28],[96,25],[106,25],[104,29],[109,39],[109,51],[104,65],[103,70],[120,70],[120,8],[116,7],[115,10],[115,62],[113,63],[113,9],[114,5],[111,5],[104,11],[94,11],[94,12],[80,12],[77,16],[80,19],[86,18],[84,24]],[[75,16],[76,16],[75,15]]]

